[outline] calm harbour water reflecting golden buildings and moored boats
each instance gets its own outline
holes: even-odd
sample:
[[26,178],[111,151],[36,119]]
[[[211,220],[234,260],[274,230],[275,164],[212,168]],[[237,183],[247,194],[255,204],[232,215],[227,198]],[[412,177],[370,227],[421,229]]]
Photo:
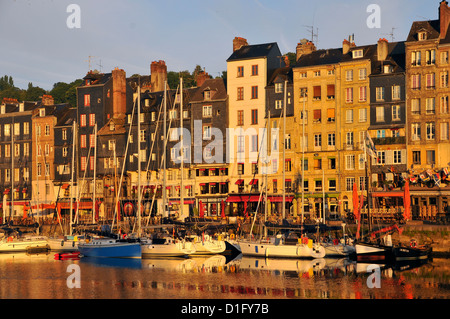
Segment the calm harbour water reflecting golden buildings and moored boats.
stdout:
[[[188,259],[55,260],[54,253],[0,255],[1,299],[449,299],[450,260],[381,265],[347,259],[279,260],[221,255]],[[70,265],[80,288],[69,288]],[[68,271],[69,270],[69,271]]]

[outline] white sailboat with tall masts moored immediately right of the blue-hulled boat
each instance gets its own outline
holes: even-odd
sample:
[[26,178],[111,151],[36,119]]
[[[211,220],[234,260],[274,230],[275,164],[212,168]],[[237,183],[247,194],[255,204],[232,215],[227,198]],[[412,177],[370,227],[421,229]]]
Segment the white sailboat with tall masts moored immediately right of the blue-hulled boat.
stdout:
[[[183,123],[183,78],[180,78],[180,119],[181,119],[181,127]],[[174,103],[175,106],[175,103]],[[139,110],[139,108],[138,108]],[[140,112],[140,111],[138,111]],[[164,128],[163,128],[163,136],[164,136],[164,152],[163,152],[163,207],[166,205],[166,148],[167,148],[167,137],[168,134],[166,132],[166,120],[167,120],[167,81],[164,83]],[[183,140],[183,138],[181,138]],[[140,147],[140,146],[139,146]],[[181,157],[183,158],[183,147],[181,147]],[[140,169],[140,163],[138,164]],[[183,161],[181,162],[181,179],[183,180]],[[140,172],[140,171],[139,171]],[[139,173],[140,174],[140,173]],[[140,175],[138,177],[140,179]],[[181,214],[183,209],[183,185],[180,186],[181,192]],[[139,197],[140,198],[140,197]],[[138,205],[140,207],[140,204]],[[165,208],[164,208],[165,213]],[[161,226],[163,227],[163,226]],[[166,225],[168,227],[168,225]],[[172,225],[173,227],[173,225]],[[163,227],[164,228],[164,227]],[[142,257],[143,258],[151,258],[151,257],[182,257],[193,254],[196,252],[195,246],[192,242],[186,241],[184,239],[176,239],[175,236],[170,236],[168,233],[159,232],[152,236],[151,238],[142,240]]]

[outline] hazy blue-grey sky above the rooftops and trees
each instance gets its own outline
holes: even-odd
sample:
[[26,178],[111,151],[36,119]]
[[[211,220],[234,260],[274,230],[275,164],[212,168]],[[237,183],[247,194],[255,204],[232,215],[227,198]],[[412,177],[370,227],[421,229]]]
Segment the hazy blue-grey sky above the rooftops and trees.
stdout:
[[[215,77],[226,71],[234,37],[249,44],[277,42],[282,54],[311,39],[312,29],[318,49],[342,47],[351,34],[357,45],[404,41],[413,21],[438,18],[439,2],[0,0],[0,77],[12,76],[22,89],[31,82],[51,90],[54,83],[83,78],[89,66],[149,75],[158,60],[168,71],[192,72],[200,65]],[[79,11],[68,10],[71,4]],[[367,24],[376,13],[368,12],[371,4],[380,9],[379,28]]]

